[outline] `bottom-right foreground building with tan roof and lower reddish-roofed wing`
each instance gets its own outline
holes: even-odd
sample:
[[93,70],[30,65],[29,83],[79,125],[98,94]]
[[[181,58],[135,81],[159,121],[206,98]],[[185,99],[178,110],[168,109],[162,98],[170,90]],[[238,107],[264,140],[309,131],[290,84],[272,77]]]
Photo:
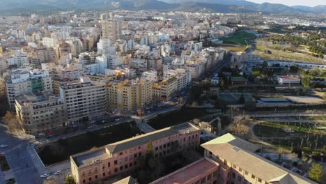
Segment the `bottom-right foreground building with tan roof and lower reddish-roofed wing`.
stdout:
[[256,154],[259,147],[226,134],[201,144],[204,158],[150,184],[316,184]]

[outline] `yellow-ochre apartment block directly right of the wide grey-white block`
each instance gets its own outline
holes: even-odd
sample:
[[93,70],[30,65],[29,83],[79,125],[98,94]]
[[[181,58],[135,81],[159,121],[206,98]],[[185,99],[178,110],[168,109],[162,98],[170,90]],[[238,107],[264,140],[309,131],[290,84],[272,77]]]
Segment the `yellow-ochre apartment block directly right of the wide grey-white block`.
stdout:
[[107,82],[107,109],[130,111],[153,100],[153,82],[142,79]]

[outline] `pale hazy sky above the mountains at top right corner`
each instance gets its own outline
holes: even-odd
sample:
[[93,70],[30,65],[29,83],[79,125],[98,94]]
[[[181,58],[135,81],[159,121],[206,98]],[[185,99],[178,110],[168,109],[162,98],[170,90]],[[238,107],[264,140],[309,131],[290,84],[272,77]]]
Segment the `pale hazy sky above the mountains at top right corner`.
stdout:
[[304,5],[304,6],[317,6],[317,5],[325,5],[326,0],[247,0],[255,3],[281,3],[288,6],[295,5]]

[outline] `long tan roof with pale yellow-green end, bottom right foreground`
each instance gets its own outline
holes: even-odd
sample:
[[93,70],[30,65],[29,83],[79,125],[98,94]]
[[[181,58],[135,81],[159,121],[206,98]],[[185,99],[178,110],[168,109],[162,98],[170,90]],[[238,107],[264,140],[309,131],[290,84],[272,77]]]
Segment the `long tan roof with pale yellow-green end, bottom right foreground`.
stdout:
[[201,146],[211,151],[213,155],[218,155],[219,158],[226,159],[227,162],[231,162],[244,171],[254,174],[263,181],[270,183],[277,182],[280,184],[314,183],[303,176],[295,174],[293,171],[256,155],[254,151],[256,151],[258,146],[230,134],[208,141]]

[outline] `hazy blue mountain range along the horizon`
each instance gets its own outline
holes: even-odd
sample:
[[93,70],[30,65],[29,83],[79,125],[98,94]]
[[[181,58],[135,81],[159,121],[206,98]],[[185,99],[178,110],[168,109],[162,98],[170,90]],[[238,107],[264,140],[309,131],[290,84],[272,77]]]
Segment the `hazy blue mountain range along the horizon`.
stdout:
[[219,13],[318,13],[326,14],[326,5],[286,6],[278,3],[253,3],[245,0],[10,0],[1,2],[2,13],[45,12],[55,10],[112,10],[112,2],[125,10],[205,10]]

